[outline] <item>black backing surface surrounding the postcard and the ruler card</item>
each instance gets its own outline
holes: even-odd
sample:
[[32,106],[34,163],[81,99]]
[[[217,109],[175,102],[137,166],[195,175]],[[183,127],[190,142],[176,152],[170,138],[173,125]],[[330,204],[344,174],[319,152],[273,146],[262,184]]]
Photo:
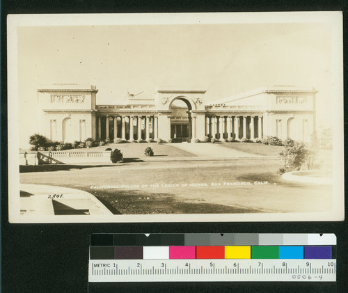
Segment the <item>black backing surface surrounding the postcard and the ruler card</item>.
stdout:
[[[292,223],[8,223],[6,15],[17,13],[199,13],[340,10],[347,1],[5,0],[1,3],[1,292],[87,292],[92,233],[335,233],[337,283],[114,283],[93,292],[347,292],[347,224]],[[347,38],[344,40],[347,57]],[[345,58],[345,65],[347,64]],[[347,66],[345,66],[347,76]],[[347,82],[345,82],[347,88]],[[346,95],[345,95],[346,96]],[[347,109],[345,107],[345,114]],[[345,133],[347,116],[345,117]],[[10,130],[9,130],[10,131]],[[347,139],[345,138],[345,145]],[[346,148],[345,148],[346,150]],[[346,159],[345,159],[346,166]],[[345,210],[347,214],[347,207]]]

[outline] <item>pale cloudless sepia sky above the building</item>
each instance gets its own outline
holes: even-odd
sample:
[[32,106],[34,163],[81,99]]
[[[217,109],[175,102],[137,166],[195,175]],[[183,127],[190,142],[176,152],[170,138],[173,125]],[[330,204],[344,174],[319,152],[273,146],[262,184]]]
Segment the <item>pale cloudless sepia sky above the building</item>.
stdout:
[[320,125],[333,115],[331,38],[327,23],[20,26],[19,142],[38,129],[42,84],[95,85],[97,104],[157,86],[201,88],[205,102],[264,86],[314,87]]

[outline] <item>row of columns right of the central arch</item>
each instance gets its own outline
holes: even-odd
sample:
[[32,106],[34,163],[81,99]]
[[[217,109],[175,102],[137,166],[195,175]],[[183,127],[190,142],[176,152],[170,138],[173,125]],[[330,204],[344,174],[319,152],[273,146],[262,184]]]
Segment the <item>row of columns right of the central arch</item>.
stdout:
[[207,116],[205,120],[205,134],[212,138],[262,138],[262,116]]

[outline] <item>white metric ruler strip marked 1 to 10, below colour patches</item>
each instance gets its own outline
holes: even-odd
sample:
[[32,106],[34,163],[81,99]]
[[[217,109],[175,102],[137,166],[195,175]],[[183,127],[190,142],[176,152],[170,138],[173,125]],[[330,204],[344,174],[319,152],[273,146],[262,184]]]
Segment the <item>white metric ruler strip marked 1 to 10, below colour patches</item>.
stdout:
[[90,260],[89,282],[335,282],[336,260]]

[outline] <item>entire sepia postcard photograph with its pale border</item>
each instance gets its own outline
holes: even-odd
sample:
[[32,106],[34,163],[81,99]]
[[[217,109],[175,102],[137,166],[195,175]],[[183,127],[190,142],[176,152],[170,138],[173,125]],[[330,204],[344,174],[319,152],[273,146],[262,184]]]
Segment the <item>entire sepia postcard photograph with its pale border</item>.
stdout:
[[345,219],[342,13],[7,21],[11,223]]

